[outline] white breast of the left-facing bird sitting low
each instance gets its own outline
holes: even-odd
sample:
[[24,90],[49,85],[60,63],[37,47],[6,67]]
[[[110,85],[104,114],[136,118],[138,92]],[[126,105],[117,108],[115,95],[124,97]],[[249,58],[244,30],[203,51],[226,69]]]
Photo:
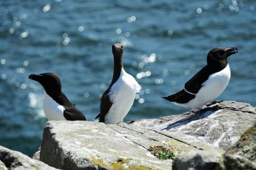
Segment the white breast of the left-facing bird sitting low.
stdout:
[[64,117],[65,108],[59,105],[44,91],[44,114],[48,120],[66,120]]

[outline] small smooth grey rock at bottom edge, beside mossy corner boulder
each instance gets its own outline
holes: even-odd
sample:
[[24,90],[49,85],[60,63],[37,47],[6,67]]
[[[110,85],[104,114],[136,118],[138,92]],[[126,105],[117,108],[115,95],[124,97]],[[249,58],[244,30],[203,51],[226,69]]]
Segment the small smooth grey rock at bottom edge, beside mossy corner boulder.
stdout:
[[179,155],[173,163],[173,170],[221,170],[221,154],[213,151],[191,151]]

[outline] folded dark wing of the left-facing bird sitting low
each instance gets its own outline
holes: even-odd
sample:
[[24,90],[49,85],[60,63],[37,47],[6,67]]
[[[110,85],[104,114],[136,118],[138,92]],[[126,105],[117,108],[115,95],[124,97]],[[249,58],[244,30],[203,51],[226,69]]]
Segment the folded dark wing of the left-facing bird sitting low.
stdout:
[[67,120],[86,120],[84,114],[80,112],[76,107],[65,108],[64,117]]

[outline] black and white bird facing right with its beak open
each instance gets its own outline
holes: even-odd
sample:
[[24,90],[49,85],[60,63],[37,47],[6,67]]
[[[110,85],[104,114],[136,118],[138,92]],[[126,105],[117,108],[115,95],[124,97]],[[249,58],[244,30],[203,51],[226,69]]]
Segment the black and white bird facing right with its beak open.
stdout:
[[184,89],[163,98],[182,107],[202,109],[227,87],[230,79],[227,58],[237,52],[237,47],[218,47],[210,50],[207,55],[207,65],[186,82]]

